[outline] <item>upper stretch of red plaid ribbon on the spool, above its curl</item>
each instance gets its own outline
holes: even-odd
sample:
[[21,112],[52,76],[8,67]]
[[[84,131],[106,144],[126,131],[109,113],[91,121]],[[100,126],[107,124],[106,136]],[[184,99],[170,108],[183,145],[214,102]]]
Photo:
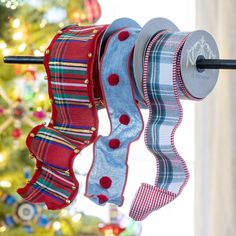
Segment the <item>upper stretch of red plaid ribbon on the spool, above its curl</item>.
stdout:
[[[97,131],[91,131],[92,127],[97,127],[98,122],[92,83],[97,68],[90,67],[92,63],[88,54],[96,55],[97,47],[93,45],[98,43],[97,31],[101,29],[104,26],[67,28],[56,39],[50,54],[49,87],[56,114],[53,127],[79,148],[85,140],[93,140],[97,134]],[[89,83],[86,83],[87,79]]]

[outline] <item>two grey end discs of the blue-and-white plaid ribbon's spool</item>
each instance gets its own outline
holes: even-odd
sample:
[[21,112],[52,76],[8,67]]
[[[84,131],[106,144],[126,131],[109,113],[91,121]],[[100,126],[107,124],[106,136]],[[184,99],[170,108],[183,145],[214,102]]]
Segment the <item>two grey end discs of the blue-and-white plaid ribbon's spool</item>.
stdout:
[[[143,67],[144,55],[150,40],[162,30],[170,32],[178,31],[171,21],[165,18],[155,18],[147,22],[135,43],[133,70],[135,83],[139,97],[144,101],[143,95]],[[205,98],[215,87],[219,70],[199,70],[196,61],[199,58],[218,59],[219,51],[214,38],[204,30],[191,32],[188,36],[181,53],[180,70],[184,86],[193,99]],[[136,96],[136,99],[139,100]]]

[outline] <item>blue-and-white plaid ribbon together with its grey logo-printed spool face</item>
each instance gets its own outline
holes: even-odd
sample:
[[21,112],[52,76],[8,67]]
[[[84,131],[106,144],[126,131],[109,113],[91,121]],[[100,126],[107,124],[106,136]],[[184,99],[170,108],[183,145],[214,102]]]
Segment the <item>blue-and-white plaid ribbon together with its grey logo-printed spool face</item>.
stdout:
[[157,160],[157,175],[154,185],[139,187],[131,204],[132,219],[145,219],[173,201],[186,185],[188,168],[174,143],[183,115],[179,99],[199,100],[212,91],[218,71],[197,70],[196,60],[218,56],[217,45],[206,31],[162,30],[148,42],[142,80],[136,82],[139,89],[143,86],[149,108],[145,143]]

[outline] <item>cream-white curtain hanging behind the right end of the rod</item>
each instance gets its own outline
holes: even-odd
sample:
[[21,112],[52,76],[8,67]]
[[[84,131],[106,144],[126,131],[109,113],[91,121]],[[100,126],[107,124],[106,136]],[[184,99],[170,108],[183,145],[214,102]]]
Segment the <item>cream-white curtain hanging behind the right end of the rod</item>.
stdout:
[[[196,0],[197,28],[236,59],[236,1]],[[236,71],[196,104],[195,236],[236,236]]]

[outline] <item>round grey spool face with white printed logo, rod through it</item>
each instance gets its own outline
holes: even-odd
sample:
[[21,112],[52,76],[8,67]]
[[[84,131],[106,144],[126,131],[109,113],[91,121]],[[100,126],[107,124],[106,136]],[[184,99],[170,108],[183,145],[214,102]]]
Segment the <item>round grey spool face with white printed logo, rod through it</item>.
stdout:
[[192,32],[182,49],[180,69],[185,88],[196,99],[205,98],[215,87],[219,70],[198,70],[198,58],[218,59],[219,51],[214,38],[204,30]]

